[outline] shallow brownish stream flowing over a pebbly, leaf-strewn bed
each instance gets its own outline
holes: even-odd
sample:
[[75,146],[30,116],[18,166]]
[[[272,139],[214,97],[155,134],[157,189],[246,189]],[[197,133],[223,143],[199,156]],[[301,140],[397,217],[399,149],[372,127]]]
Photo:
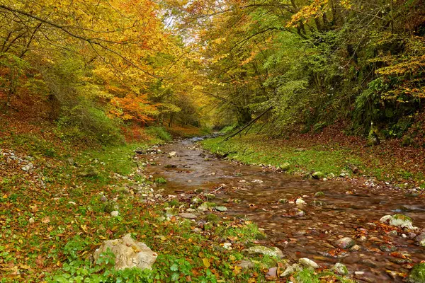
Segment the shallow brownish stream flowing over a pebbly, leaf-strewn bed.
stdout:
[[[198,188],[206,192],[216,190],[214,202],[227,207],[225,214],[245,215],[255,221],[268,235],[263,244],[277,246],[286,258],[310,258],[328,267],[342,262],[350,272],[357,272],[356,279],[360,282],[402,282],[402,277],[391,276],[389,271],[408,272],[407,263],[395,254],[380,250],[382,244],[397,247],[396,253],[408,254],[414,263],[425,260],[424,248],[415,246],[409,238],[411,235],[390,236],[379,225],[382,216],[402,209],[403,214],[414,219],[414,226],[423,228],[423,198],[408,196],[402,191],[356,187],[336,180],[302,180],[270,169],[245,166],[216,158],[195,146],[196,141],[186,139],[160,147],[165,153],[176,151],[177,156],[147,156],[156,165],[147,166],[145,173],[166,178],[163,187],[172,195]],[[324,192],[324,197],[314,198],[318,191]],[[279,202],[283,198],[291,202],[297,197],[302,197],[306,204]],[[229,199],[240,202],[229,202]],[[325,204],[311,205],[314,200]],[[305,215],[290,216],[290,209],[295,207],[302,209]],[[336,250],[333,243],[342,236],[355,239],[361,249]],[[365,236],[365,240],[361,241],[361,236]]]

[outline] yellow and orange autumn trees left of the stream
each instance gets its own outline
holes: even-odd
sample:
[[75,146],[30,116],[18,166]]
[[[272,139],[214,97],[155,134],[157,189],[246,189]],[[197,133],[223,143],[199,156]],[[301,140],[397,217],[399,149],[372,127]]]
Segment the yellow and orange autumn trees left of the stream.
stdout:
[[41,103],[34,115],[70,136],[119,140],[123,123],[176,120],[193,103],[185,48],[153,1],[2,1],[0,107]]

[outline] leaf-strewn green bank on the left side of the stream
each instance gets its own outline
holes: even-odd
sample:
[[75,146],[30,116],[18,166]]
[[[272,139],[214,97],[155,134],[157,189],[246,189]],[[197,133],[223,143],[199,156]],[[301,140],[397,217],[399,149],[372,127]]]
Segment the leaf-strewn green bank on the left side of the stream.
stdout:
[[[286,265],[256,255],[248,269],[238,266],[243,249],[264,237],[246,219],[220,212],[198,222],[166,217],[166,207],[190,204],[159,195],[161,184],[153,185],[142,173],[145,161],[135,158],[135,149],[161,140],[90,148],[35,128],[0,139],[0,282],[263,282],[269,267]],[[111,253],[94,262],[103,241],[127,233],[158,253],[152,270],[116,271]],[[346,281],[321,271],[290,277],[322,278]]]

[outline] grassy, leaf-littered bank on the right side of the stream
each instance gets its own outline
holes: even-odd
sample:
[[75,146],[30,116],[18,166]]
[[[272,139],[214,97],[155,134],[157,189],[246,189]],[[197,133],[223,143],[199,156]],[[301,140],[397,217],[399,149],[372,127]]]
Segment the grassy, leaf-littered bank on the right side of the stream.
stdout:
[[[253,131],[254,132],[254,131]],[[404,187],[424,187],[424,149],[400,146],[400,141],[382,141],[365,146],[361,137],[346,136],[337,127],[319,134],[293,134],[280,139],[250,133],[223,141],[225,137],[203,141],[205,149],[246,164],[290,163],[290,173],[320,171],[328,177],[341,173],[374,177]],[[385,183],[384,183],[385,184]],[[405,185],[407,184],[407,185]]]

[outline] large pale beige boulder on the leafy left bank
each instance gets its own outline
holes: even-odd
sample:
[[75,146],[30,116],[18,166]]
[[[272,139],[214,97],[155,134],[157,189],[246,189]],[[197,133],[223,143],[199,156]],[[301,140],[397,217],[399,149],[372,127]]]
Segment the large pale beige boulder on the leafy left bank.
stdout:
[[101,253],[106,252],[108,248],[115,255],[116,270],[132,267],[150,270],[158,256],[145,243],[135,241],[128,233],[123,238],[104,241],[101,247],[94,251],[94,260],[98,260]]

